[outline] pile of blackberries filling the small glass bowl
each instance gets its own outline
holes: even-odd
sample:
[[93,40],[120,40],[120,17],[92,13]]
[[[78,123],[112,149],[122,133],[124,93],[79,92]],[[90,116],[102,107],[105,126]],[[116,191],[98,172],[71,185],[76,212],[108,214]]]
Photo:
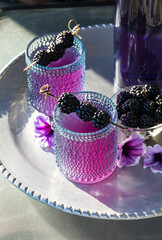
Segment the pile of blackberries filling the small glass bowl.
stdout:
[[[123,97],[129,96],[130,97]],[[124,99],[124,100],[123,100]],[[117,96],[118,118],[123,125],[149,128],[162,123],[162,95],[157,84],[133,86]]]

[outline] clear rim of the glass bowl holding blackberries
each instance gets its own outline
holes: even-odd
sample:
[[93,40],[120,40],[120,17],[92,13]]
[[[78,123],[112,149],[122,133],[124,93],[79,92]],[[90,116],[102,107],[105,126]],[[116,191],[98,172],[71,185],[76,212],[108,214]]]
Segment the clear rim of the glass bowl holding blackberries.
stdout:
[[[139,87],[143,87],[145,86],[146,84],[139,84],[139,85],[133,85],[133,86],[139,86]],[[122,91],[126,91],[126,90],[130,90],[131,87],[133,86],[127,86],[125,88],[121,88],[120,90],[118,90],[117,92],[115,92],[112,97],[111,97],[111,100],[114,102],[114,99],[117,97],[117,95],[122,92]],[[161,90],[162,91],[162,90]],[[114,103],[115,104],[115,103]],[[115,104],[116,105],[116,104]],[[156,125],[156,126],[153,126],[153,127],[149,127],[149,128],[132,128],[132,127],[129,127],[127,125],[123,125],[121,124],[120,120],[118,119],[118,125],[121,126],[121,127],[126,127],[128,129],[131,129],[132,131],[134,132],[148,132],[148,131],[154,131],[156,129],[159,129],[159,128],[162,128],[162,123]]]

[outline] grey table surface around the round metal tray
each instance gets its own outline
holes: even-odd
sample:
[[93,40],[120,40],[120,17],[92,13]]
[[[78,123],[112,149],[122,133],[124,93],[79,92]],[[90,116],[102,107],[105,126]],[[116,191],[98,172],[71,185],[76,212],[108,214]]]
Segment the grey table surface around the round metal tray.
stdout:
[[[14,10],[0,15],[0,69],[35,36],[67,29],[69,19],[82,27],[113,22],[113,6]],[[162,217],[100,220],[64,213],[16,189],[0,175],[0,239],[162,239]]]

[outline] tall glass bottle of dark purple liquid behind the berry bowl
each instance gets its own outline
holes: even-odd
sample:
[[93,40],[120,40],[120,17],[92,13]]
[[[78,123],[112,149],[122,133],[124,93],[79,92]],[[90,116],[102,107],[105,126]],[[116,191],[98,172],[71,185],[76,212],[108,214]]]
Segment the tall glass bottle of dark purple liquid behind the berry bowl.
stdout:
[[116,89],[158,83],[162,88],[162,1],[116,0]]

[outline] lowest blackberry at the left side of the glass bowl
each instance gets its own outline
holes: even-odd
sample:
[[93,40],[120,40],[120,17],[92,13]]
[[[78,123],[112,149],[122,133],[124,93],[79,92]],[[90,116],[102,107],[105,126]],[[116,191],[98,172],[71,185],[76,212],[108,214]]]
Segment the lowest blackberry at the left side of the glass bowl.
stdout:
[[123,125],[126,125],[128,127],[137,128],[139,126],[139,119],[134,111],[122,114],[120,121]]

